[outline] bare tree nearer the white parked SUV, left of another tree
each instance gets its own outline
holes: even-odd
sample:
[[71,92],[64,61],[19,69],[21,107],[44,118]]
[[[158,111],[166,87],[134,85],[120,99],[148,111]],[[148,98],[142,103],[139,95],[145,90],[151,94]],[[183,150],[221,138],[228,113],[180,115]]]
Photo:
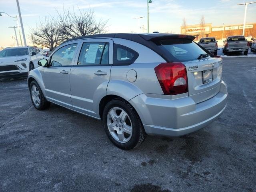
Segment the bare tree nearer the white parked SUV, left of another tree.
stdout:
[[50,50],[54,50],[64,41],[60,29],[58,26],[56,27],[55,19],[51,16],[39,20],[36,27],[30,28],[30,31],[33,35],[29,38],[34,44],[47,47]]

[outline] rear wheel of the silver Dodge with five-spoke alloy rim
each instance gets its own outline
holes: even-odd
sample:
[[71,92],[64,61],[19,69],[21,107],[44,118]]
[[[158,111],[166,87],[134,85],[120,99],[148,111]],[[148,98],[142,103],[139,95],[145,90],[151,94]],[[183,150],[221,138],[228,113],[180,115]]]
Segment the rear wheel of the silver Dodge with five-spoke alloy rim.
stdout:
[[133,149],[145,139],[146,133],[140,117],[125,100],[114,99],[108,102],[102,120],[108,138],[119,148]]

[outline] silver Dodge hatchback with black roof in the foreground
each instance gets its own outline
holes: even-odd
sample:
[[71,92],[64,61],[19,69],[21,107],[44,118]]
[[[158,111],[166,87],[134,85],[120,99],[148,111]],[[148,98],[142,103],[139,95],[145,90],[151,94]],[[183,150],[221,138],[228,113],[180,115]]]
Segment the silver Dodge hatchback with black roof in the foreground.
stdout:
[[70,39],[28,74],[38,110],[50,103],[103,120],[132,149],[146,136],[181,136],[226,108],[222,58],[177,34],[100,34]]

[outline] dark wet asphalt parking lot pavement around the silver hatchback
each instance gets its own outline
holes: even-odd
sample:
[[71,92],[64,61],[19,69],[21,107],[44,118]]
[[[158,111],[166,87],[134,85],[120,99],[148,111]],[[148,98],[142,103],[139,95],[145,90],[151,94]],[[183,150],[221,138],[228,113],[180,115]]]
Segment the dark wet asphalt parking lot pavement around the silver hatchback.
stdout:
[[0,191],[255,192],[256,61],[224,58],[223,69],[218,120],[129,151],[98,120],[53,104],[36,110],[26,80],[0,82]]

